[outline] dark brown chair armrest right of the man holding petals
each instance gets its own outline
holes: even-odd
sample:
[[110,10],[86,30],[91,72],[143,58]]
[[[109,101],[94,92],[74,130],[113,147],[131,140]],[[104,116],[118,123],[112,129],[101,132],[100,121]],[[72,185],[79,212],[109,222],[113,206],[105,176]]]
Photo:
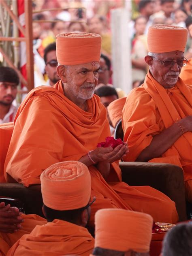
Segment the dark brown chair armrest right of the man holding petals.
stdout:
[[179,221],[187,220],[183,170],[173,164],[120,162],[122,180],[130,186],[151,186],[175,202]]

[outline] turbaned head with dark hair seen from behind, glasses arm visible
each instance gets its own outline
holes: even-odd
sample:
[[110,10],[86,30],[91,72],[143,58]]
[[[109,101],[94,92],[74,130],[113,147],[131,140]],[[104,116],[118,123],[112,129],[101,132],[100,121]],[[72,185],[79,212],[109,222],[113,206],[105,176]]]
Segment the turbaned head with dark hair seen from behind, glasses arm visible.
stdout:
[[79,226],[87,225],[91,177],[85,164],[66,161],[51,165],[41,174],[41,192],[43,213],[48,222],[58,219]]

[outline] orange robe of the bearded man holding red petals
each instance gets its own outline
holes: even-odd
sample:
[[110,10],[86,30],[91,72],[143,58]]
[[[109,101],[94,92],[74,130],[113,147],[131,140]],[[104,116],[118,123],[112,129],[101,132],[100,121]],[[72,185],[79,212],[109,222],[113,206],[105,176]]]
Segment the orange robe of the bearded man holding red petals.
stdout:
[[[56,162],[79,160],[110,136],[107,111],[94,95],[87,100],[85,112],[64,96],[62,83],[37,87],[22,102],[15,117],[15,127],[6,156],[6,180],[24,186],[40,184],[43,170]],[[90,225],[102,208],[122,208],[149,213],[155,221],[175,223],[175,203],[149,186],[131,187],[122,182],[118,163],[111,164],[108,181],[94,165]]]

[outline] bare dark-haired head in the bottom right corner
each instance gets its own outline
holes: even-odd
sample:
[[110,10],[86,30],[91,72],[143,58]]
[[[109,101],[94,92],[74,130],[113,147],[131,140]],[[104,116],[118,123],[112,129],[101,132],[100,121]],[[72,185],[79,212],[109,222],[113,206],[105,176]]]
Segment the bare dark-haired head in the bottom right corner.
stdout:
[[192,222],[177,224],[165,236],[162,256],[192,255]]

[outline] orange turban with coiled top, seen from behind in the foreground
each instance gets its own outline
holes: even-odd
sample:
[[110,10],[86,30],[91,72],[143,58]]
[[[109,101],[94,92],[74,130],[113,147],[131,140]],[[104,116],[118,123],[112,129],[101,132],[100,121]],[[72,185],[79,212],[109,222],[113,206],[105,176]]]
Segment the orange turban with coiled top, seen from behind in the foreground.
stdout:
[[91,196],[91,175],[87,166],[77,161],[59,162],[41,174],[43,203],[64,211],[86,206]]

